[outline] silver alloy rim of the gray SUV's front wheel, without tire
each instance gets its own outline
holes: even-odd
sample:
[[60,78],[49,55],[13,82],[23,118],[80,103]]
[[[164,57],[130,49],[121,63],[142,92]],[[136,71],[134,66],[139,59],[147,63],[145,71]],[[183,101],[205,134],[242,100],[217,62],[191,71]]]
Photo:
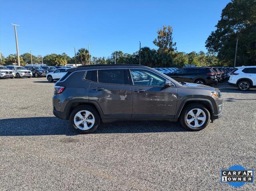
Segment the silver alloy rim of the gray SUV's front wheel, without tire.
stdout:
[[199,128],[206,122],[206,113],[199,108],[191,109],[187,113],[186,122],[192,128]]

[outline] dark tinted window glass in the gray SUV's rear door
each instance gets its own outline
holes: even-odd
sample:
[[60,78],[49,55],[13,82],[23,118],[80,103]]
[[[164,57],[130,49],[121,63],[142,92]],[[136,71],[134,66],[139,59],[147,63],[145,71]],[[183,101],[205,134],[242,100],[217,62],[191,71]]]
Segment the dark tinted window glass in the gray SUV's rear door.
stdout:
[[123,69],[98,70],[98,82],[107,84],[125,83],[125,71]]

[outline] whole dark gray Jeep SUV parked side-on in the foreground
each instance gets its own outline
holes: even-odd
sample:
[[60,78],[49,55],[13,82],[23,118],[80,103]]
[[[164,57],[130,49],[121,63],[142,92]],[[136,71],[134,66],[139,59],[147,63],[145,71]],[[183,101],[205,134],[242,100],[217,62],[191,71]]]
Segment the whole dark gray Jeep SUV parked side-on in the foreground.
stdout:
[[[100,122],[180,121],[191,131],[222,115],[222,94],[213,87],[179,83],[142,65],[89,65],[67,70],[54,85],[53,114],[79,133]],[[134,79],[137,73],[143,78]]]

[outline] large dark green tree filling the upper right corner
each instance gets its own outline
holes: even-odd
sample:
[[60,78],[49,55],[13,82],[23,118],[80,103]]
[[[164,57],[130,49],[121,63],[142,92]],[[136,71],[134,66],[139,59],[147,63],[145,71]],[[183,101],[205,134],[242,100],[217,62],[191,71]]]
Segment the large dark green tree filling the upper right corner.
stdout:
[[233,65],[238,38],[237,66],[256,63],[256,0],[232,0],[222,10],[221,19],[206,40],[206,48]]

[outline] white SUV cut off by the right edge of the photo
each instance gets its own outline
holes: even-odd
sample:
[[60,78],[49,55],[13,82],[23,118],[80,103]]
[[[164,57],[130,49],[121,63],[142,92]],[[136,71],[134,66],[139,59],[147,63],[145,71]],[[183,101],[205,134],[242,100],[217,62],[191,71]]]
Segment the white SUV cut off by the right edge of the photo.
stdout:
[[241,91],[256,87],[256,66],[236,67],[230,73],[228,84],[238,87]]

